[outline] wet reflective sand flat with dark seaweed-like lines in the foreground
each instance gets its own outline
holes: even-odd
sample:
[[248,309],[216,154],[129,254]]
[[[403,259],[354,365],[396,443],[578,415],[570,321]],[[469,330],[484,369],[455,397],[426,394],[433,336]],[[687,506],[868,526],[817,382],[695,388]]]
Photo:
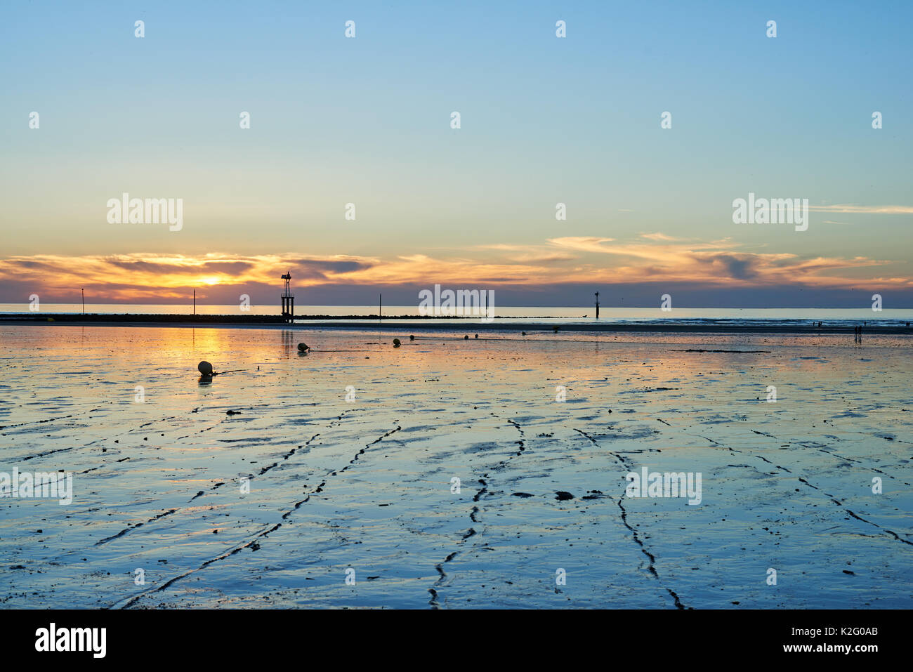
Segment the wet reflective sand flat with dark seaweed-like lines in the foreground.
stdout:
[[908,336],[466,333],[0,325],[0,606],[911,605]]

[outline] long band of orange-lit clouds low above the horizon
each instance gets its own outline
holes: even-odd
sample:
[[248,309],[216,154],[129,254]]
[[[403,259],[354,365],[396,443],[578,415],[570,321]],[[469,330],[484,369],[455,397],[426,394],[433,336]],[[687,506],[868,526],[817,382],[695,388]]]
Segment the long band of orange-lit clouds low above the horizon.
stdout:
[[[598,236],[564,236],[541,245],[488,245],[393,258],[299,254],[198,256],[134,253],[0,259],[0,284],[29,291],[68,293],[86,288],[123,302],[184,299],[189,289],[263,285],[278,287],[290,270],[296,287],[320,285],[429,285],[497,287],[638,282],[689,282],[709,286],[795,285],[850,289],[863,281],[913,287],[911,278],[874,277],[892,261],[867,257],[803,258],[792,253],[748,252],[730,239],[704,243],[644,234],[621,242]],[[868,271],[866,273],[866,271]],[[34,289],[33,289],[34,288]]]

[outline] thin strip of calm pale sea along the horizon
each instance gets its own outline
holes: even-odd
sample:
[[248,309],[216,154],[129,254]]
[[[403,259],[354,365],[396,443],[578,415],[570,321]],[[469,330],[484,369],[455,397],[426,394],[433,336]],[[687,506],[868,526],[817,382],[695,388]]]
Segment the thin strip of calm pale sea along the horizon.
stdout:
[[[242,311],[236,304],[232,305],[200,305],[196,312],[201,315],[278,315],[279,307],[276,305],[252,305],[250,310]],[[377,306],[296,306],[299,315],[376,315]],[[153,315],[191,315],[194,313],[192,305],[184,304],[113,304],[113,303],[87,303],[87,313],[99,314],[129,314],[145,313]],[[0,313],[27,313],[26,303],[0,303]],[[43,303],[41,312],[47,313],[79,313],[82,306],[79,303]],[[496,306],[496,321],[507,320],[560,320],[562,323],[595,322],[593,307],[516,307]],[[413,306],[384,306],[383,315],[387,318],[393,316],[417,316],[418,309]],[[467,318],[456,318],[466,320]],[[476,318],[468,318],[476,320]],[[679,323],[694,322],[769,322],[791,323],[810,321],[849,322],[857,323],[866,321],[868,324],[897,325],[906,322],[913,323],[913,310],[885,309],[879,312],[861,309],[834,309],[834,308],[674,308],[664,312],[656,308],[600,308],[600,322],[638,322],[638,321],[668,321]],[[374,320],[371,320],[374,321]],[[449,321],[449,320],[446,320]]]

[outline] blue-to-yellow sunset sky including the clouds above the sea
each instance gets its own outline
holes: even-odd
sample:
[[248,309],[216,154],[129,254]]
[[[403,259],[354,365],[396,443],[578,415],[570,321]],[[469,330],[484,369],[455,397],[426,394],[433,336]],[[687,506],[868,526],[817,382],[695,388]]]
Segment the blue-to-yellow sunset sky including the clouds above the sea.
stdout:
[[[911,22],[831,0],[4,3],[0,302],[278,303],[290,270],[299,307],[441,284],[913,308]],[[182,199],[180,230],[111,224],[124,193]],[[807,230],[735,224],[749,194],[807,198]]]

